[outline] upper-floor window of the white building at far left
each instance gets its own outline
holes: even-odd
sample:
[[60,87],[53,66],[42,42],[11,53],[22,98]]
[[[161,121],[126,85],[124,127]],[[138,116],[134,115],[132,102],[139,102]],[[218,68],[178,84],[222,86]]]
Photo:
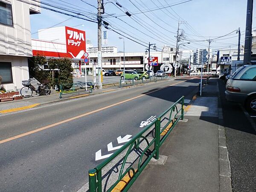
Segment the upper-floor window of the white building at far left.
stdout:
[[0,24],[13,26],[12,5],[0,2]]

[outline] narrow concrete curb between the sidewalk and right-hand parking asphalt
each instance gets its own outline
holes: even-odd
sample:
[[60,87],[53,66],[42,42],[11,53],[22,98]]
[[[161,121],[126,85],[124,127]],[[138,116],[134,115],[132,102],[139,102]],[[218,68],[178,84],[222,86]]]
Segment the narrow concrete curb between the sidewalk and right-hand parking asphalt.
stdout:
[[[217,89],[219,90],[218,82]],[[219,149],[219,189],[232,192],[230,161],[227,150],[226,128],[223,125],[220,93],[218,92],[218,149]]]

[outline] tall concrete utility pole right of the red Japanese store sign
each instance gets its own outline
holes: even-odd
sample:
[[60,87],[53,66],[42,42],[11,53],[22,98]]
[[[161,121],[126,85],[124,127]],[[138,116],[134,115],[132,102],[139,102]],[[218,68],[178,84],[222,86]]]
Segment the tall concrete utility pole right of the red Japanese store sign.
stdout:
[[99,89],[102,89],[102,0],[98,0],[98,77]]

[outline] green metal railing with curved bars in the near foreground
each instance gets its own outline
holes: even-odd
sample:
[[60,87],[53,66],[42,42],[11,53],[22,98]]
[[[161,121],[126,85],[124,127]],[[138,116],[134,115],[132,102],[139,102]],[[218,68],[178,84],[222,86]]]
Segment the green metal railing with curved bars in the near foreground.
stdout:
[[125,181],[121,191],[126,192],[151,160],[159,158],[159,148],[172,129],[184,116],[184,96],[163,114],[154,119],[128,143],[119,148],[103,163],[89,171],[90,192],[118,191],[116,187]]

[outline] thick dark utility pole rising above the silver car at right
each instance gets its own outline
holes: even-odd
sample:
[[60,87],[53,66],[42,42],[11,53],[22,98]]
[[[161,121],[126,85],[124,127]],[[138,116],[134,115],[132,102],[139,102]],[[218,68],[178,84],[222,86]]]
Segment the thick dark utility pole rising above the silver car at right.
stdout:
[[247,0],[247,15],[244,42],[244,65],[251,64],[253,0]]

